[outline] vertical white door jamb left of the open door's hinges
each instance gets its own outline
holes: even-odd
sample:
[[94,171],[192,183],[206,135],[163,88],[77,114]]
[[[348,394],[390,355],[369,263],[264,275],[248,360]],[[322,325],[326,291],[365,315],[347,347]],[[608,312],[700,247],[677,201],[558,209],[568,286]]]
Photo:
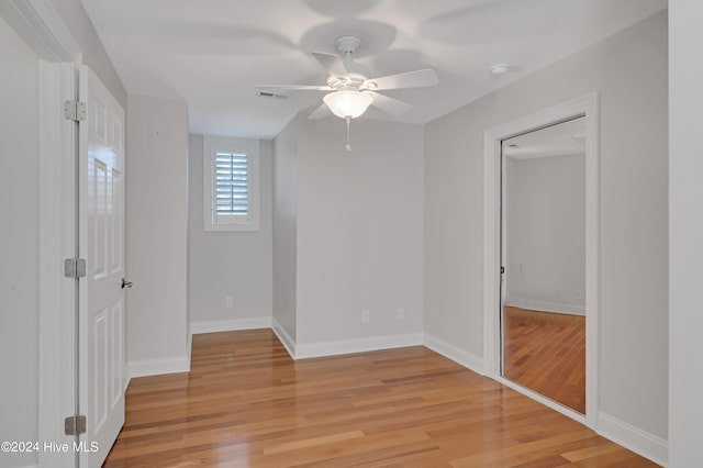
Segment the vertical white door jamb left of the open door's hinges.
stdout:
[[[63,260],[78,255],[76,186],[78,124],[63,115],[76,99],[72,63],[40,60],[40,376],[38,441],[71,444],[66,416],[76,414],[76,291]],[[75,467],[76,454],[40,450],[41,467]]]

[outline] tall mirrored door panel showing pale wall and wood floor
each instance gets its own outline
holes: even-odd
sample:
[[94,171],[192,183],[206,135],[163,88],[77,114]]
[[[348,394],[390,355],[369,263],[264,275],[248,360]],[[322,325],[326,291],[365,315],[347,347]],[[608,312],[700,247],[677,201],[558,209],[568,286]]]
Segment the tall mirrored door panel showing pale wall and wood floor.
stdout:
[[584,118],[501,145],[501,375],[585,414]]

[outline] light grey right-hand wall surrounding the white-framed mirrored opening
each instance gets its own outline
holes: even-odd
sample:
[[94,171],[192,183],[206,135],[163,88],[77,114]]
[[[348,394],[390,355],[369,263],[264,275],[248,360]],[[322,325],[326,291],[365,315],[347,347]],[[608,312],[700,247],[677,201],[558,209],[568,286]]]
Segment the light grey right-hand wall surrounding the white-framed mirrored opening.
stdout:
[[644,438],[666,439],[666,12],[426,125],[425,331],[482,355],[483,132],[593,91],[601,99],[600,408]]

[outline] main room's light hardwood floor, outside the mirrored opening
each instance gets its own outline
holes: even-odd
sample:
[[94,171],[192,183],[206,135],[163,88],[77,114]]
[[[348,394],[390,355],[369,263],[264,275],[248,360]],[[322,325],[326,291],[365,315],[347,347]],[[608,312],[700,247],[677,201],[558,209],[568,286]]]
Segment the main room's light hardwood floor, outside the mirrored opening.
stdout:
[[269,330],[193,336],[126,412],[107,468],[656,466],[425,347],[293,361]]

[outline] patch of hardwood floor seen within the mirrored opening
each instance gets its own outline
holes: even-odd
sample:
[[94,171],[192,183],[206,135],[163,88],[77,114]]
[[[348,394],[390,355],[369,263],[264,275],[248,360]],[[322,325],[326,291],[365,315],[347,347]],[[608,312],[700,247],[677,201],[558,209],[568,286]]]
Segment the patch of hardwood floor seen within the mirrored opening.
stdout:
[[503,376],[585,413],[585,317],[503,308]]

